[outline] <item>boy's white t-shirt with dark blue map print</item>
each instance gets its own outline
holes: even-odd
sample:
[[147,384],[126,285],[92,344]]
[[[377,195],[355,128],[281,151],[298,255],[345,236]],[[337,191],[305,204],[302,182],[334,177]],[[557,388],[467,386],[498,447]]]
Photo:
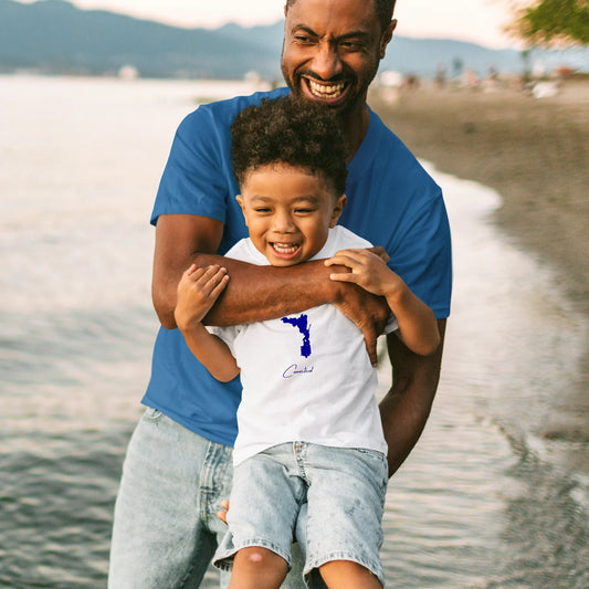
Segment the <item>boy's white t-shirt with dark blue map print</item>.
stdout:
[[[370,248],[370,243],[337,225],[314,259],[332,257],[347,248]],[[238,242],[227,256],[269,264],[250,239]],[[391,316],[387,333],[396,328]],[[294,441],[386,454],[375,397],[376,370],[362,333],[334,305],[281,319],[209,329],[228,344],[241,369],[243,393],[234,464]]]

